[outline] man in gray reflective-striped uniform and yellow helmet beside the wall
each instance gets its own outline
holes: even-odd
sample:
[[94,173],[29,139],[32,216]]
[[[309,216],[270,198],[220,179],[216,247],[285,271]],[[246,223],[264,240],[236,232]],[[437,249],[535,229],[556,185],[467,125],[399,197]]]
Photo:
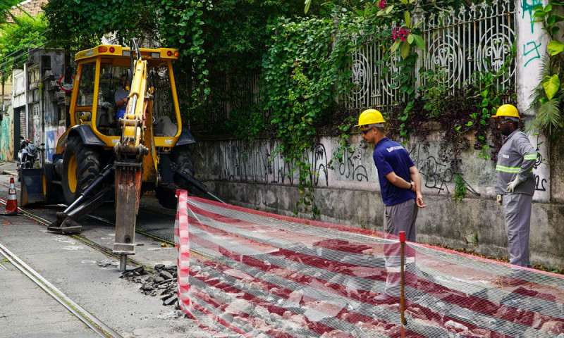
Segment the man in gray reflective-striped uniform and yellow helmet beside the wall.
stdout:
[[519,129],[520,116],[515,106],[500,106],[492,118],[498,118],[498,128],[506,137],[496,165],[496,199],[505,215],[510,263],[531,268],[529,232],[535,188],[532,168],[537,151]]

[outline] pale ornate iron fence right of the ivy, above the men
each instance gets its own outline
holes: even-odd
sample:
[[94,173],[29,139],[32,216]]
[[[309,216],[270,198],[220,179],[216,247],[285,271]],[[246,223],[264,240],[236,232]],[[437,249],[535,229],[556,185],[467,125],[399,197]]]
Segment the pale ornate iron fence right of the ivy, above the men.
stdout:
[[[460,8],[439,15],[430,15],[422,27],[425,51],[417,49],[419,66],[424,70],[441,70],[443,84],[454,92],[464,84],[472,83],[477,71],[497,73],[510,56],[515,40],[515,1],[494,0]],[[422,19],[419,19],[422,20]],[[383,64],[378,43],[360,46],[353,54],[353,83],[355,92],[345,99],[347,108],[385,107],[400,101],[395,78],[400,56]],[[509,60],[508,71],[498,78],[498,88],[515,91],[515,63]],[[425,79],[415,67],[412,74],[418,84]]]

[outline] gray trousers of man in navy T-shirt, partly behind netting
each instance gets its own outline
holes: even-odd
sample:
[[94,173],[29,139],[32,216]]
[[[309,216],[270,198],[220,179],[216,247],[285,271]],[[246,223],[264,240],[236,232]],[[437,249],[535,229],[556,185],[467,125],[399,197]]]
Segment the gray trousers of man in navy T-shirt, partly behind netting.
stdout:
[[[415,242],[417,231],[415,229],[415,220],[417,220],[417,212],[419,208],[415,204],[415,199],[410,199],[395,206],[386,206],[384,213],[384,230],[388,234],[398,236],[400,231],[405,231],[405,239],[408,242]],[[394,242],[384,244],[384,255],[386,256],[386,289],[385,294],[390,296],[400,296],[400,259],[401,246],[397,237]],[[417,277],[415,276],[415,250],[405,245],[405,284],[415,285]]]

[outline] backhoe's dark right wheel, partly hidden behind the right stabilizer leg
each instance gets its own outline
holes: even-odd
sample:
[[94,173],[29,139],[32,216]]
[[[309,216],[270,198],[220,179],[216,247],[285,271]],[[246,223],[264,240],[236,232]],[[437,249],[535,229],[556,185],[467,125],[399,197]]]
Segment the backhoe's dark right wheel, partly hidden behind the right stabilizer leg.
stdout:
[[[176,163],[185,172],[190,173],[192,176],[194,175],[194,158],[192,158],[188,146],[176,146],[171,152],[171,161]],[[179,175],[175,174],[173,180],[178,187],[190,190],[190,184]],[[176,209],[176,191],[166,189],[165,187],[157,187],[155,196],[157,196],[159,204],[164,206],[164,208]]]

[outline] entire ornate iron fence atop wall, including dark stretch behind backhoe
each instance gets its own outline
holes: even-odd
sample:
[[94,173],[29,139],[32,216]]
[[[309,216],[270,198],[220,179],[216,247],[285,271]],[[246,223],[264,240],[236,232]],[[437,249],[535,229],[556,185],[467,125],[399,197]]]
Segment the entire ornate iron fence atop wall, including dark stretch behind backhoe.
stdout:
[[[515,1],[491,2],[491,6],[484,2],[470,8],[461,7],[458,13],[450,10],[428,18],[414,15],[415,20],[423,21],[420,27],[426,44],[424,51],[415,49],[419,57],[415,72],[410,75],[417,79],[418,86],[427,81],[420,69],[440,70],[443,76],[435,80],[439,79],[454,92],[456,88],[472,83],[474,73],[484,70],[496,73],[506,65],[508,70],[498,77],[498,89],[507,94],[515,93],[515,62],[513,58],[508,58],[515,41]],[[403,99],[396,84],[399,54],[382,62],[379,44],[371,42],[357,48],[352,58],[351,81],[356,84],[356,89],[348,97],[340,98],[345,108],[384,108]],[[506,61],[509,61],[508,64]],[[206,122],[192,120],[190,128],[194,132],[214,130],[235,109],[260,101],[257,74],[239,77],[237,83],[223,73],[214,73],[209,78],[213,87],[212,95],[204,104],[207,113],[203,119]],[[192,82],[188,77],[177,77],[176,85],[180,106],[189,106],[183,102],[188,103],[188,93],[193,90]]]

